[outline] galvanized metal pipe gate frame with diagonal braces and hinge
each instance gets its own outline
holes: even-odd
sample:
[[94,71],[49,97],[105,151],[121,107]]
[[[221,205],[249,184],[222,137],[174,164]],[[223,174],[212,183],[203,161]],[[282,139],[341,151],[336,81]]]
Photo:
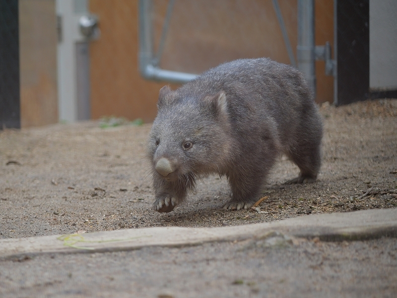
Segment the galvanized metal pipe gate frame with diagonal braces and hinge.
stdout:
[[[336,0],[334,0],[336,2]],[[325,60],[326,74],[335,74],[335,62],[331,60],[331,46],[315,46],[314,40],[314,0],[298,0],[298,46],[297,63],[284,20],[281,14],[278,0],[272,0],[273,8],[283,35],[285,47],[290,63],[298,67],[305,75],[309,86],[316,94],[315,61]],[[146,79],[164,80],[174,83],[186,83],[197,77],[197,74],[174,72],[163,70],[159,67],[164,50],[165,38],[169,28],[169,22],[175,0],[170,0],[161,32],[161,38],[157,53],[153,49],[153,28],[151,23],[152,0],[139,0],[139,71]]]

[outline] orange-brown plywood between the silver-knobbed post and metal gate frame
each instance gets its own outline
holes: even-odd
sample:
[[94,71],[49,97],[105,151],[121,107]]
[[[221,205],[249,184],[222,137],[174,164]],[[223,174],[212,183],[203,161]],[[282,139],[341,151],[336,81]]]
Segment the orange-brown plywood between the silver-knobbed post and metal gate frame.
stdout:
[[91,117],[153,121],[159,89],[138,70],[137,1],[90,0],[101,36],[90,44]]

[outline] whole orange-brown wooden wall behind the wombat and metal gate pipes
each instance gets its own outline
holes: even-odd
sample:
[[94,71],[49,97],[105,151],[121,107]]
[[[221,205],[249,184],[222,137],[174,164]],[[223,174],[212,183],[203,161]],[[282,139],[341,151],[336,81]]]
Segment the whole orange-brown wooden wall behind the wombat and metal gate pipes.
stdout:
[[[92,118],[115,115],[148,122],[156,115],[158,91],[166,83],[147,81],[139,74],[137,2],[90,0],[90,11],[99,16],[101,30],[99,40],[90,44]],[[156,42],[168,0],[153,3]],[[296,57],[297,2],[279,0],[279,5]],[[332,1],[316,0],[318,45],[333,43],[332,10]],[[162,68],[200,73],[243,57],[270,57],[289,64],[271,1],[175,1]],[[333,79],[325,76],[324,62],[316,63],[316,71],[317,101],[332,102]]]

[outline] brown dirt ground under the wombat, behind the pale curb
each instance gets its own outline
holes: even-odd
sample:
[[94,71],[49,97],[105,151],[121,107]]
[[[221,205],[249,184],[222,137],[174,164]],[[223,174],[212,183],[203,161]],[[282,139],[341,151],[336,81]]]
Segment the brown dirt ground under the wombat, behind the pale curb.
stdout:
[[396,208],[397,99],[325,104],[321,114],[325,133],[318,181],[284,185],[298,168],[282,157],[264,187],[268,198],[256,211],[221,209],[229,188],[216,176],[200,181],[173,212],[151,210],[154,194],[145,158],[150,124],[109,127],[90,121],[1,131],[0,238],[238,225]]

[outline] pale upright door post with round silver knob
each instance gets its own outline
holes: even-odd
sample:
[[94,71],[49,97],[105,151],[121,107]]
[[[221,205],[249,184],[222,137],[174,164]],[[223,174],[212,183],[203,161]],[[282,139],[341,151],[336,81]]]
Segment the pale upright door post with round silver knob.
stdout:
[[56,0],[60,122],[90,119],[89,42],[99,38],[98,18],[88,0]]

